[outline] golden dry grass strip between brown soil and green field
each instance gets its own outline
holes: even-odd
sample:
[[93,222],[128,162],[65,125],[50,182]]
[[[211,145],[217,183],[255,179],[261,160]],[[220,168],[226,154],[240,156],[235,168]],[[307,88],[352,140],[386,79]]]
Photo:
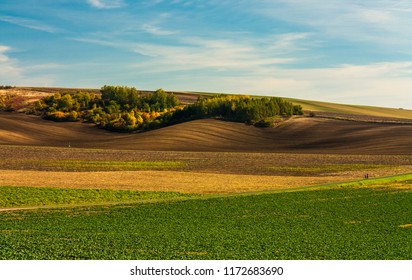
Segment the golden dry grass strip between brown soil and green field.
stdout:
[[52,172],[0,170],[0,186],[236,193],[296,188],[347,177],[263,176],[177,171]]

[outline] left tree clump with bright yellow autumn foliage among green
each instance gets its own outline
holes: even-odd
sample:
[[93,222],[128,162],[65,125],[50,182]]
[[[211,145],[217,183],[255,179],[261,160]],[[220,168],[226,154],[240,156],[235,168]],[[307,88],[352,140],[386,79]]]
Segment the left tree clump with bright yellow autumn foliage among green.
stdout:
[[160,125],[159,116],[176,110],[179,99],[158,89],[142,93],[136,88],[104,86],[101,94],[56,93],[34,103],[34,112],[54,121],[92,122],[114,131],[134,131]]

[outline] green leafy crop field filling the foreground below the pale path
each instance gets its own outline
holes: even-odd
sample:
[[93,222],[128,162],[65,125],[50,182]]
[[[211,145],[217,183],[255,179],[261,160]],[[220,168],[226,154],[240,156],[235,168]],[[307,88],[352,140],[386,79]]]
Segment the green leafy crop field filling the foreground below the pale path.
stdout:
[[0,212],[0,259],[411,259],[411,177]]

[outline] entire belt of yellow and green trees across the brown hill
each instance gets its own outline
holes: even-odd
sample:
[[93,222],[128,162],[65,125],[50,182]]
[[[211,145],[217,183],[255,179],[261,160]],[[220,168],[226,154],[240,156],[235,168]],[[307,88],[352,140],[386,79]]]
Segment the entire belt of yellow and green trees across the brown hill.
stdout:
[[146,130],[202,118],[271,126],[276,117],[303,114],[301,106],[277,97],[217,95],[180,106],[175,95],[162,89],[150,93],[104,86],[100,92],[56,93],[36,101],[33,111],[46,119],[83,120],[113,131]]

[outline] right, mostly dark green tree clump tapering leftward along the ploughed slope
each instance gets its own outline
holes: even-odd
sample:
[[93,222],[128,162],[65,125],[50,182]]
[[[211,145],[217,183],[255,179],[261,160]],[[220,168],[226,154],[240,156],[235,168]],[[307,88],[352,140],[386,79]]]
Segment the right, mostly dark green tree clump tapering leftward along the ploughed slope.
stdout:
[[302,107],[278,97],[218,95],[199,98],[194,104],[176,111],[170,116],[169,122],[215,117],[257,126],[271,126],[274,117],[292,115],[303,115]]

